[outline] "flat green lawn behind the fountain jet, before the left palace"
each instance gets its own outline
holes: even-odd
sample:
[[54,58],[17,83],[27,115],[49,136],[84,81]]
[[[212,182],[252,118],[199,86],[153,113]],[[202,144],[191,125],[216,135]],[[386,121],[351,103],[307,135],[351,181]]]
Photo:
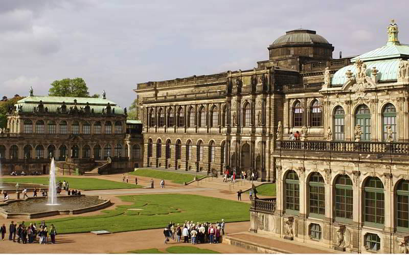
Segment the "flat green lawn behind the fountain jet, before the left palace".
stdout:
[[[111,190],[111,189],[130,189],[142,188],[131,183],[122,183],[111,180],[103,180],[97,178],[73,178],[73,177],[57,177],[57,181],[68,181],[71,189],[79,190]],[[48,177],[32,177],[32,178],[4,178],[4,182],[8,183],[35,183],[48,184]]]

